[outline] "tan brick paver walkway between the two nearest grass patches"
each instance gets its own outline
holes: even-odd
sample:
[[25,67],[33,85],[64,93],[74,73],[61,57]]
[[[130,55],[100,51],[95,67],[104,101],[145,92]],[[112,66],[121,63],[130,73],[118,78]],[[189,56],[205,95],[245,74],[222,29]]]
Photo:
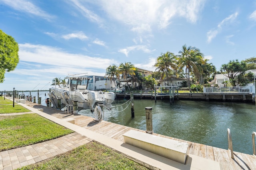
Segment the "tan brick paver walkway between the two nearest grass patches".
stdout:
[[0,170],[13,170],[62,154],[91,142],[92,139],[79,133],[59,137],[50,141],[0,152]]

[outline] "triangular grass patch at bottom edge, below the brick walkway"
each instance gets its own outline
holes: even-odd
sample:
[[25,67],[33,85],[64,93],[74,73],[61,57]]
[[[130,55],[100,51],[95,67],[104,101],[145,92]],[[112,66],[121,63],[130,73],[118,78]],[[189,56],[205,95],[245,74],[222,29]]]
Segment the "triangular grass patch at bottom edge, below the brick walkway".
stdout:
[[125,158],[107,147],[90,142],[74,150],[60,154],[18,170],[147,170],[144,166]]

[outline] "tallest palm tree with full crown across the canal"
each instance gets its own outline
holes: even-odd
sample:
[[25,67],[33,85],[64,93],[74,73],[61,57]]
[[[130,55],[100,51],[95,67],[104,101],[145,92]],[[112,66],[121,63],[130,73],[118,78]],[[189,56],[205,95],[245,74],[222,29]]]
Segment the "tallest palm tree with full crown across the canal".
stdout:
[[204,55],[200,53],[200,50],[196,47],[186,47],[186,45],[182,46],[182,50],[179,51],[178,55],[178,65],[180,68],[186,68],[186,79],[187,84],[189,87],[189,91],[191,92],[190,88],[190,72],[197,72],[198,71],[198,64],[202,62],[204,59]]

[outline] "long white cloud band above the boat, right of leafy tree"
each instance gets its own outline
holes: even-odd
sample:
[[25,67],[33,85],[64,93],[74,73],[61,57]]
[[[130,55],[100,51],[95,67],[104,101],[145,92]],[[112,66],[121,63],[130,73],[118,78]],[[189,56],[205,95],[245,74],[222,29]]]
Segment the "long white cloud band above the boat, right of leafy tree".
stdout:
[[116,63],[112,59],[67,53],[63,49],[44,45],[25,43],[19,47],[20,61],[48,64],[50,67],[61,67],[66,71],[102,69]]

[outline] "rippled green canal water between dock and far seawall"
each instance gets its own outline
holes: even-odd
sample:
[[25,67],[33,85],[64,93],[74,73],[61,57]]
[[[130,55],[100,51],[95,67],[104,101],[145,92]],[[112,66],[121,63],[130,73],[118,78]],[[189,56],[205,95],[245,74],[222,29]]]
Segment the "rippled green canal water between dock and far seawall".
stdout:
[[[145,107],[152,107],[154,133],[228,149],[229,128],[233,150],[252,154],[252,132],[256,131],[254,104],[189,100],[169,104],[164,100],[156,103],[154,100],[134,100],[135,117],[131,118],[127,101],[118,100],[111,111],[105,108],[104,120],[146,130]],[[79,114],[94,117],[89,109]]]

